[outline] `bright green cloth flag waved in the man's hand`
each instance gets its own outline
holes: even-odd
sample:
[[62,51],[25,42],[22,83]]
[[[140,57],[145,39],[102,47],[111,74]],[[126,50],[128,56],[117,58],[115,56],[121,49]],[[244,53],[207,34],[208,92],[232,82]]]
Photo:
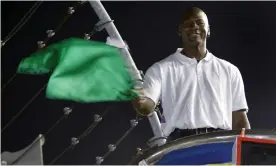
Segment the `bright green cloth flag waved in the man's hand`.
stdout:
[[50,99],[88,103],[137,97],[120,50],[101,42],[63,40],[23,59],[17,72],[52,73],[46,89]]

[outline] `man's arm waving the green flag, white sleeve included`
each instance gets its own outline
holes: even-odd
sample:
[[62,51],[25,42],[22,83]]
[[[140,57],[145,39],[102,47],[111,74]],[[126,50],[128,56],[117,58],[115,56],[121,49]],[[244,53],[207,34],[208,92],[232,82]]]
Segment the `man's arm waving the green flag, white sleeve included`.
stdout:
[[136,88],[136,92],[140,96],[139,100],[133,101],[136,111],[142,115],[152,113],[161,95],[161,75],[158,64],[154,64],[147,70],[143,87]]

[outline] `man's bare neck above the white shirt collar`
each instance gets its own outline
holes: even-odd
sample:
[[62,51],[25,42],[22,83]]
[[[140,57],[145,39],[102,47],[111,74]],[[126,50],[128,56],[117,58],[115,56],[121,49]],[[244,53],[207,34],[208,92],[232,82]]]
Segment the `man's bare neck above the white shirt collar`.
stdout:
[[207,48],[206,46],[183,46],[182,54],[189,58],[195,58],[196,60],[201,60],[206,56]]

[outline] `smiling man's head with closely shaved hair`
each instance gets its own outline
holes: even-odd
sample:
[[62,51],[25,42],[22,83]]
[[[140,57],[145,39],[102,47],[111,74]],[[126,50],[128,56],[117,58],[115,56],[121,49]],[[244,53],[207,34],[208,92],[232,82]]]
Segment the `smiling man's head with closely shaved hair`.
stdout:
[[179,35],[186,45],[198,46],[205,43],[210,28],[204,11],[196,7],[186,10],[179,25]]

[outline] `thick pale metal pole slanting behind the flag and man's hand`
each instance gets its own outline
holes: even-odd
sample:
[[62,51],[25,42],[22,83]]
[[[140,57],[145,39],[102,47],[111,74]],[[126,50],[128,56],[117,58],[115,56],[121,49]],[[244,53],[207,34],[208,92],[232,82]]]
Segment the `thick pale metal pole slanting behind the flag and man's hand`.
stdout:
[[[100,2],[100,0],[92,0],[92,1],[89,1],[89,3],[92,6],[92,8],[94,9],[97,16],[99,17],[100,22],[102,22],[102,23],[109,22],[104,27],[106,29],[109,37],[111,39],[115,39],[115,40],[119,41],[120,43],[124,43],[121,35],[119,34],[114,23],[111,21],[110,16],[106,12],[106,10],[105,10],[104,6],[102,5],[102,3]],[[128,68],[130,69],[130,72],[133,74],[133,76],[137,80],[142,80],[142,77],[141,77],[127,47],[122,48],[122,54],[126,60]],[[152,131],[154,133],[154,137],[155,138],[163,137],[162,130],[161,130],[161,124],[160,124],[159,118],[157,116],[157,113],[153,112],[153,114],[148,116],[148,118],[149,118],[149,121],[151,124]],[[156,139],[156,140],[157,140],[156,144],[159,146],[165,144],[165,142],[166,142],[166,140],[164,140],[164,139]]]

